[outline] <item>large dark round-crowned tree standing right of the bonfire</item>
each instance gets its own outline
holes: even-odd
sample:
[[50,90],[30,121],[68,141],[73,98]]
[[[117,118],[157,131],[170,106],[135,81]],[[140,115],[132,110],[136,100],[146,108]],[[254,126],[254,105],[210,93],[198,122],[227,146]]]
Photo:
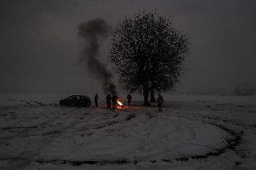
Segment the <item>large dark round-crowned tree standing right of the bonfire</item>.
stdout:
[[140,92],[149,104],[155,91],[167,92],[179,82],[187,38],[167,17],[142,12],[126,17],[113,31],[108,57],[121,74],[125,90]]

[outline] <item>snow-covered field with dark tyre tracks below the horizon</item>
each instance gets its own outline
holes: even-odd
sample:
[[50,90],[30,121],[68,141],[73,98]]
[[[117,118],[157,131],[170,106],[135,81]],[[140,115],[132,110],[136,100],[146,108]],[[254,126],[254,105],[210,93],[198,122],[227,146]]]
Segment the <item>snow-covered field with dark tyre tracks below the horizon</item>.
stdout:
[[256,169],[255,96],[169,95],[163,112],[61,97],[0,96],[0,169]]

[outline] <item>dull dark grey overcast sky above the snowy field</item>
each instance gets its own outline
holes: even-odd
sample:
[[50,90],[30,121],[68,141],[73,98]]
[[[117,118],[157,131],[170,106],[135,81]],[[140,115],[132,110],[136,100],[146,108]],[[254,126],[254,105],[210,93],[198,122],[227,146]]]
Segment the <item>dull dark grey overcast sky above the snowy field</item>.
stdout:
[[255,0],[1,0],[0,92],[97,92],[78,61],[78,24],[101,17],[114,27],[125,15],[155,8],[189,37],[179,92],[256,87]]

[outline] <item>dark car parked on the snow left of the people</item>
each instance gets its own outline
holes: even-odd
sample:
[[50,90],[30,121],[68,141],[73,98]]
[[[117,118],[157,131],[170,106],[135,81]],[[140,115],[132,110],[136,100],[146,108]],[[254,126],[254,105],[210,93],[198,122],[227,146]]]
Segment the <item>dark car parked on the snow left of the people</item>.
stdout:
[[59,105],[88,107],[91,105],[91,100],[87,95],[71,95],[66,99],[60,100]]

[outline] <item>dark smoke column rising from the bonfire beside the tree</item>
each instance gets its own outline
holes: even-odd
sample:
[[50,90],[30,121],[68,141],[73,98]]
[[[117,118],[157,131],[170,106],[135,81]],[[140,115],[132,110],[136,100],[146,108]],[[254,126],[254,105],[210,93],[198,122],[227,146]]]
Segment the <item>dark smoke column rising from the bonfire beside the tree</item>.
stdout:
[[116,94],[116,87],[112,82],[113,75],[99,58],[101,42],[107,38],[110,31],[110,26],[100,18],[81,23],[78,26],[78,35],[83,40],[84,49],[80,61],[87,65],[90,74],[102,82],[105,94]]

